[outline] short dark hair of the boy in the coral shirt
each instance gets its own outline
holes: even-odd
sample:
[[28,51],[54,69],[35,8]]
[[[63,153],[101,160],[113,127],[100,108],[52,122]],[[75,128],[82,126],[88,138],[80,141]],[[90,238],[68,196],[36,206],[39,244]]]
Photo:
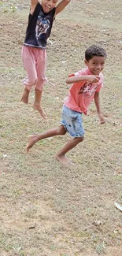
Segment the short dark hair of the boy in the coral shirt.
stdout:
[[107,57],[105,49],[102,48],[102,46],[92,45],[87,48],[85,51],[85,59],[86,61],[91,60],[94,56],[102,56]]

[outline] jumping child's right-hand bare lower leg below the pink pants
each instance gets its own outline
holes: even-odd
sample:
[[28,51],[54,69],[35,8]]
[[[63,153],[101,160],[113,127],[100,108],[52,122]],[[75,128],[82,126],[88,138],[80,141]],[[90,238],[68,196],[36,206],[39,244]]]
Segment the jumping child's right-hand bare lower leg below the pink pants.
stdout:
[[39,113],[40,113],[41,117],[43,117],[43,119],[46,119],[46,113],[43,111],[43,108],[41,106],[42,94],[43,94],[43,91],[40,91],[35,88],[35,102],[32,107],[33,107],[33,109],[39,111]]

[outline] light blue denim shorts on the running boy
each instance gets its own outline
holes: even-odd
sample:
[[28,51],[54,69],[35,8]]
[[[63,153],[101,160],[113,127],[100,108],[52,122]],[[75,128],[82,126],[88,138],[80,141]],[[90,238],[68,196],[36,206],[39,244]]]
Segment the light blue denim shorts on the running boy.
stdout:
[[61,124],[72,137],[83,137],[82,113],[63,106]]

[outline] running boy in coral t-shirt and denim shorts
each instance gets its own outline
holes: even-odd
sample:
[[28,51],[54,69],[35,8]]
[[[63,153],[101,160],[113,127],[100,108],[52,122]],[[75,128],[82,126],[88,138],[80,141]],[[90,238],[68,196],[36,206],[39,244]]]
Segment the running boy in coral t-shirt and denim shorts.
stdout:
[[62,109],[62,120],[59,128],[50,129],[39,135],[29,135],[26,150],[39,140],[52,137],[55,135],[65,135],[68,132],[72,139],[68,140],[55,158],[61,164],[68,165],[72,162],[66,157],[66,153],[84,139],[82,113],[87,114],[87,109],[94,99],[100,123],[104,124],[105,120],[99,102],[99,91],[103,87],[102,69],[105,65],[106,52],[101,46],[90,46],[85,51],[86,69],[79,70],[75,74],[68,76],[66,83],[72,83],[69,89],[68,97],[64,100]]

